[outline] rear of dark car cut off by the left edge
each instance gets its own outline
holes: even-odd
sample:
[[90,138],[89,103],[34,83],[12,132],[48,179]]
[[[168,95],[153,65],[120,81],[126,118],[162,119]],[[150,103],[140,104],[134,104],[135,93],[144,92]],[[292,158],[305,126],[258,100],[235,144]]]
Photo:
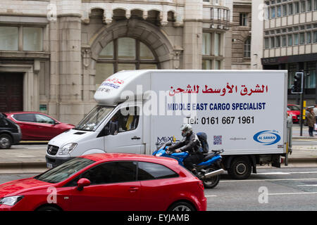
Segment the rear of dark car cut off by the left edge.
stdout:
[[19,143],[22,134],[21,129],[15,122],[8,120],[6,115],[0,113],[0,148],[10,148]]

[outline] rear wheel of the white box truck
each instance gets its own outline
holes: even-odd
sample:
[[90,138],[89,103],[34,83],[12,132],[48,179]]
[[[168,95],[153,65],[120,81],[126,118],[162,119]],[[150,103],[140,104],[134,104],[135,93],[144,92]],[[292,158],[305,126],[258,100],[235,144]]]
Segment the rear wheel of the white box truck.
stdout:
[[251,174],[251,169],[251,163],[248,158],[237,157],[232,161],[228,174],[232,179],[247,179]]

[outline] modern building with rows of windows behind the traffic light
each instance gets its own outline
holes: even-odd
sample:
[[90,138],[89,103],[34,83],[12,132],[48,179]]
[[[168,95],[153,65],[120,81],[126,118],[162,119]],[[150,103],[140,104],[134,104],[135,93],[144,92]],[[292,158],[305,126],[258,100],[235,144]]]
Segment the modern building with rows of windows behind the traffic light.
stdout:
[[263,40],[261,46],[257,46],[256,41],[251,45],[251,50],[254,48],[252,66],[264,70],[288,70],[288,102],[297,104],[299,96],[291,94],[290,89],[295,73],[304,72],[305,100],[307,105],[315,105],[317,1],[259,1],[252,7],[254,20],[261,24],[252,26],[254,39]]

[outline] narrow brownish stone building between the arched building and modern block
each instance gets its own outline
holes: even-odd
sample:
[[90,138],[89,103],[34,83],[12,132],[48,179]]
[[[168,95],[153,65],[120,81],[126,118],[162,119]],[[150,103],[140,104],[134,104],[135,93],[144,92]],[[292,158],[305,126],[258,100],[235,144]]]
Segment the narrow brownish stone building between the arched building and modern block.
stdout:
[[251,0],[233,1],[232,70],[251,67]]

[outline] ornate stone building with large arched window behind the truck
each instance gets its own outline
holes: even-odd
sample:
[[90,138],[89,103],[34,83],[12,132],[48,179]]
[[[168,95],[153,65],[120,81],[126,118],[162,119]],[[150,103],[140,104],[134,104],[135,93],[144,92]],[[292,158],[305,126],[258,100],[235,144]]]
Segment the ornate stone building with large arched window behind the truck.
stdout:
[[120,70],[231,69],[232,0],[1,0],[0,111],[77,124]]

